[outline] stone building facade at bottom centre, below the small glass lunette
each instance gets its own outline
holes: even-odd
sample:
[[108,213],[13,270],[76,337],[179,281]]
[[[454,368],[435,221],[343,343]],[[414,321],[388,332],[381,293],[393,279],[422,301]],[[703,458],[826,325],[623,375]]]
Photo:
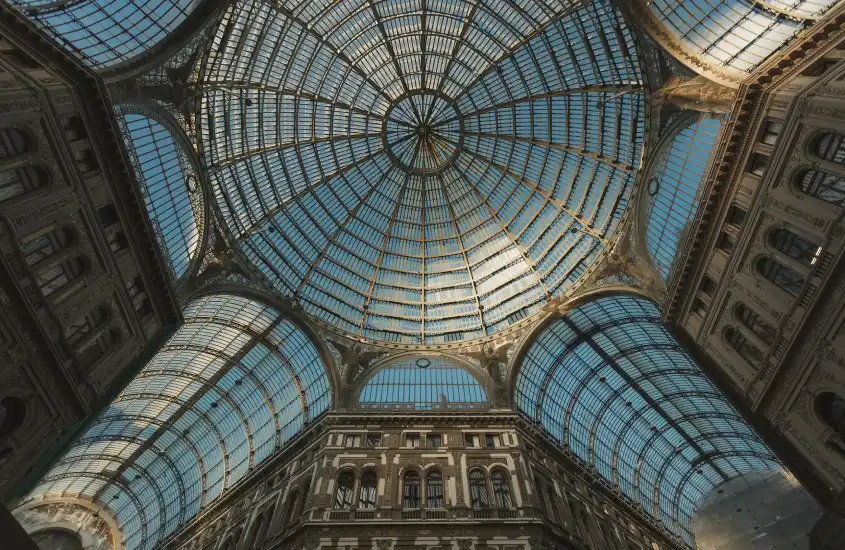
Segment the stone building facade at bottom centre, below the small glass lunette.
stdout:
[[[413,500],[405,494],[409,472],[420,482],[415,507],[408,506]],[[436,507],[429,505],[431,472],[442,478],[442,491],[436,491],[442,505]],[[495,496],[494,472],[507,482],[506,497]],[[354,480],[348,504],[338,495],[344,473]],[[361,503],[367,473],[376,479],[369,506]],[[483,477],[486,505],[473,499],[471,476]],[[653,520],[621,502],[509,411],[373,411],[324,417],[164,548],[656,550],[676,545]]]

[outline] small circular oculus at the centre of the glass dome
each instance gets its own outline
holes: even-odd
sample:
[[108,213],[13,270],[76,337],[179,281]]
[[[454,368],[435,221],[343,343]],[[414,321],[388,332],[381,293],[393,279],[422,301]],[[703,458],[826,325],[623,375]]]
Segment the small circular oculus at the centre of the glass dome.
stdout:
[[394,101],[382,126],[384,149],[410,174],[438,174],[452,165],[463,147],[463,118],[443,93],[415,90]]

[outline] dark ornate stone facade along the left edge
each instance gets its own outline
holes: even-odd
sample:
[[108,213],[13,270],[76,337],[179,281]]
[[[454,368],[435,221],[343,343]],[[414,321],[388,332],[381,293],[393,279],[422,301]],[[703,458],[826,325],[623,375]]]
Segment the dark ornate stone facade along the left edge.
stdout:
[[5,498],[71,426],[111,400],[177,310],[104,96],[0,10]]

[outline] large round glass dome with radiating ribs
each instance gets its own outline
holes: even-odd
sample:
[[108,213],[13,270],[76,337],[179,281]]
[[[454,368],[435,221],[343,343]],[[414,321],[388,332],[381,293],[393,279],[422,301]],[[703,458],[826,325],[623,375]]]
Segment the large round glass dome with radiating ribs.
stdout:
[[380,341],[539,311],[598,257],[640,162],[640,60],[607,0],[241,1],[202,78],[240,248],[311,315]]

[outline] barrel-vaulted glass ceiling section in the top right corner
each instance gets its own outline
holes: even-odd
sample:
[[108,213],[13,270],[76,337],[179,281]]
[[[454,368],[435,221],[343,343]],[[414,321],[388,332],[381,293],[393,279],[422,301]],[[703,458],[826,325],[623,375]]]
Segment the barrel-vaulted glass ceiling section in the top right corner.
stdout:
[[751,72],[836,0],[654,0],[650,9],[692,53]]

